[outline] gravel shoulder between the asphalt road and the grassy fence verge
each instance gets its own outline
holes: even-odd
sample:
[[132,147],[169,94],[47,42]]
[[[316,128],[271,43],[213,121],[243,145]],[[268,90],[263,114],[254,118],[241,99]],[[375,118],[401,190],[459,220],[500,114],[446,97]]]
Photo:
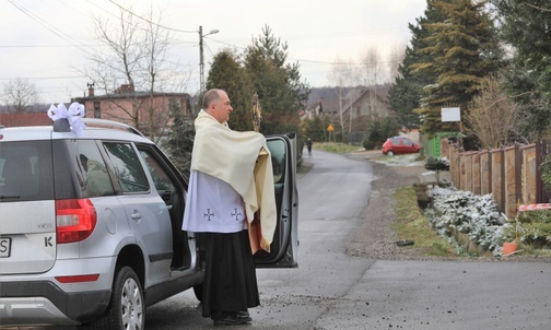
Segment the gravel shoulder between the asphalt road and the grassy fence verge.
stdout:
[[382,157],[380,151],[357,152],[347,154],[348,157],[371,162],[375,179],[372,182],[372,195],[363,212],[359,228],[351,234],[347,245],[350,256],[383,260],[455,260],[455,261],[536,261],[550,262],[551,257],[507,256],[480,258],[441,258],[424,256],[422,249],[414,246],[400,247],[396,233],[391,229],[396,222],[392,195],[396,189],[420,182],[420,175],[426,173],[423,164],[407,166],[388,166],[376,162]]

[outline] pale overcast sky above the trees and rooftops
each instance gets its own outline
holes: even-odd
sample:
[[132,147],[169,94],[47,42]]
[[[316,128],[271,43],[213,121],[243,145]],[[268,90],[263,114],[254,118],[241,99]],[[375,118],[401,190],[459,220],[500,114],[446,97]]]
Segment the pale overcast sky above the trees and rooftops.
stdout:
[[[300,62],[312,86],[330,85],[330,63],[359,63],[370,48],[385,58],[410,39],[408,23],[423,15],[426,0],[2,0],[0,1],[0,85],[28,79],[44,103],[82,96],[90,82],[82,47],[97,47],[93,17],[115,19],[120,4],[137,14],[151,5],[175,39],[172,57],[190,78],[185,91],[199,90],[199,26],[204,38],[206,74],[212,56],[226,47],[250,45],[262,27],[288,43],[288,59]],[[2,89],[0,86],[0,94]]]

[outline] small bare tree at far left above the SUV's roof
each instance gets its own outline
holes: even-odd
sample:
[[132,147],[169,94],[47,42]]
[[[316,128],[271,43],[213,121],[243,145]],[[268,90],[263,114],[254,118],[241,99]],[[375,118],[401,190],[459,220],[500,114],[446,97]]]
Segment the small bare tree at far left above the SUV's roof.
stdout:
[[3,102],[9,111],[23,114],[39,102],[38,89],[26,79],[15,79],[3,85]]

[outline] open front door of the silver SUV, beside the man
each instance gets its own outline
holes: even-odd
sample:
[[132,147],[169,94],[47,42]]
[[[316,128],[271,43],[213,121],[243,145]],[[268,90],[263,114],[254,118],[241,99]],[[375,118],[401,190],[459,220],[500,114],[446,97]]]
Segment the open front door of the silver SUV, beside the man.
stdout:
[[294,268],[298,266],[296,134],[277,134],[266,139],[273,166],[278,224],[270,252],[259,250],[255,255],[255,263],[257,268]]

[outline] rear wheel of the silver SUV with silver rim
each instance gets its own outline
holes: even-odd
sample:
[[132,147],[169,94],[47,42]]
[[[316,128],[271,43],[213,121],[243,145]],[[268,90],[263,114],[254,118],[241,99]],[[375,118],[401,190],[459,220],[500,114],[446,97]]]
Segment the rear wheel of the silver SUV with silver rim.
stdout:
[[91,323],[93,330],[142,330],[145,327],[143,288],[130,267],[115,273],[109,306],[103,316]]

